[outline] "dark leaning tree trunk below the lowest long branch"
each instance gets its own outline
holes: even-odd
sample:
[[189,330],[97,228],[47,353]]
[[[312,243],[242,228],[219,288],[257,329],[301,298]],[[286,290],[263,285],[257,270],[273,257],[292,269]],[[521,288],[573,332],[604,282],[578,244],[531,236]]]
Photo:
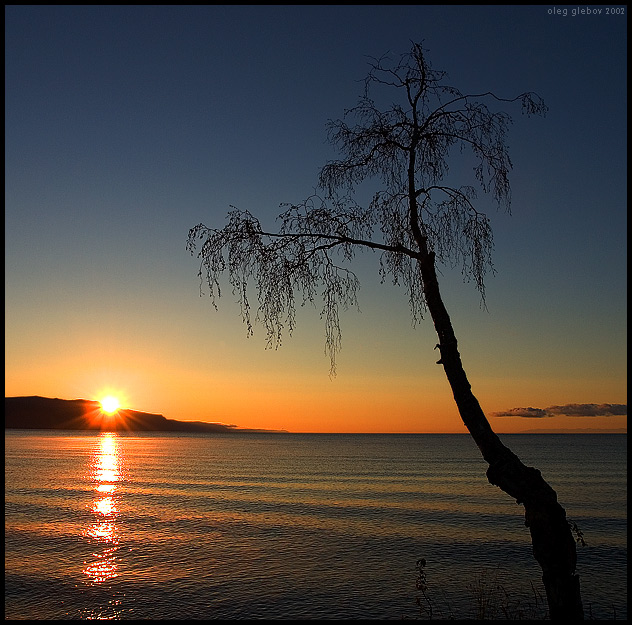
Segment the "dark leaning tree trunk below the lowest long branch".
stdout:
[[583,620],[575,573],[576,543],[566,512],[540,471],[525,466],[492,430],[463,370],[452,322],[439,292],[434,253],[422,250],[419,262],[426,303],[439,337],[438,364],[445,369],[463,423],[489,464],[487,479],[524,505],[525,525],[531,532],[533,555],[542,568],[551,620]]

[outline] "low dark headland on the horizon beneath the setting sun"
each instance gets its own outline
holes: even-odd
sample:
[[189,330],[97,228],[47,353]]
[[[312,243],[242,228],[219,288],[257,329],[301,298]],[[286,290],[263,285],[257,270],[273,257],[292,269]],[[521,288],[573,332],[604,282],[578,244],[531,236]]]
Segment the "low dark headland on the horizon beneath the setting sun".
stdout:
[[118,417],[108,418],[101,404],[89,399],[49,397],[5,397],[4,427],[28,430],[108,430],[132,432],[265,432],[236,425],[176,421],[161,414],[121,408]]

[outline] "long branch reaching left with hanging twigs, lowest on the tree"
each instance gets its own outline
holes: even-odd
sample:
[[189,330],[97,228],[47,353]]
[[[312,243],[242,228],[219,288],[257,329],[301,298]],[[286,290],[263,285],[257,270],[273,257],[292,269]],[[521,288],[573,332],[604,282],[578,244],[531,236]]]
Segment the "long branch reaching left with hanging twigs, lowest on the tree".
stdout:
[[[349,204],[344,211],[340,207],[332,210],[320,198],[311,196],[302,204],[290,205],[279,217],[279,231],[268,232],[248,211],[233,208],[222,229],[204,224],[192,228],[187,249],[194,253],[199,248],[198,275],[201,283],[209,286],[215,307],[221,296],[222,275],[228,273],[248,335],[253,333],[253,322],[263,323],[269,347],[278,348],[283,333],[292,333],[296,292],[302,294],[301,305],[315,304],[321,298],[325,350],[334,374],[341,345],[339,309],[357,305],[360,286],[355,273],[336,258],[350,261],[362,249],[416,257],[416,252],[401,243],[390,245],[360,238],[372,229],[367,215]],[[254,317],[249,298],[252,288],[258,301]]]

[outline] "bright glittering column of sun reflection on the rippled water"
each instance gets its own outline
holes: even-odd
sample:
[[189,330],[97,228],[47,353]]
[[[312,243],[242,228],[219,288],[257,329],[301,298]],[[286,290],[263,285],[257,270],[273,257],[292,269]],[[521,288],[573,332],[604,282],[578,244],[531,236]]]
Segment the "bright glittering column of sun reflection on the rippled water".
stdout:
[[95,549],[92,559],[84,562],[83,573],[86,583],[98,585],[118,577],[116,491],[121,480],[121,458],[116,434],[107,432],[99,435],[89,471],[95,498],[90,506],[92,522],[83,534],[94,541]]

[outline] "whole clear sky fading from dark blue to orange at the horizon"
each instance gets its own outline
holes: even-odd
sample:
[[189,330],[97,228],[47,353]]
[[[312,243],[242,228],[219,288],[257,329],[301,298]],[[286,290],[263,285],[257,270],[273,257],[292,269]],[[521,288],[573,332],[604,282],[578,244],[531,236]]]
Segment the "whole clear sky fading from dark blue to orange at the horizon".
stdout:
[[330,379],[317,310],[266,350],[229,289],[218,312],[200,297],[185,249],[231,204],[271,224],[307,197],[367,56],[412,40],[464,92],[531,90],[550,108],[503,109],[512,216],[481,205],[487,310],[458,271],[441,276],[492,426],[625,427],[607,409],[547,410],[627,402],[627,21],[552,8],[5,7],[5,394],[112,392],[168,418],[295,432],[465,432],[432,322],[412,327],[376,255],[356,264],[361,312],[342,317]]

